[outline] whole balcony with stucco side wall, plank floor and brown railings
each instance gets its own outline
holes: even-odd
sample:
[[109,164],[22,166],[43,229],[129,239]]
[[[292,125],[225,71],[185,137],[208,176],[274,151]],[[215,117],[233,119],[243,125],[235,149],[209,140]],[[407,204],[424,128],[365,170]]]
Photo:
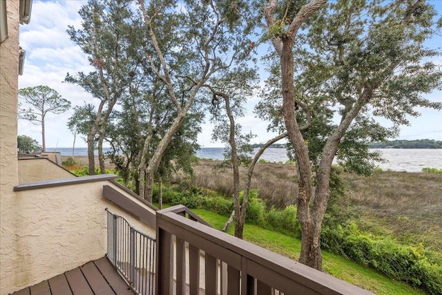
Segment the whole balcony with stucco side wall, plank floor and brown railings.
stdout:
[[184,206],[157,211],[113,178],[15,187],[2,284],[20,295],[371,294],[213,229]]

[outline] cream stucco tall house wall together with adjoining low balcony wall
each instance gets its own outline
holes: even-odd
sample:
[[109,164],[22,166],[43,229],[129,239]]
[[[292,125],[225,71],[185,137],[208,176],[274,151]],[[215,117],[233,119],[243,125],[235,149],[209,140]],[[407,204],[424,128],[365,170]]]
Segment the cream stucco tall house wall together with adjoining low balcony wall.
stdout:
[[[139,222],[137,218],[130,217],[128,213],[102,197],[104,184],[121,191],[109,181],[70,184],[17,193],[13,191],[19,183],[19,0],[6,1],[6,10],[8,38],[0,44],[1,295],[39,283],[104,256],[106,207],[114,213],[126,216],[137,229],[155,236],[155,229]],[[50,170],[52,169],[46,172],[53,173]],[[31,174],[29,170],[28,174]],[[34,177],[35,173],[30,176]]]

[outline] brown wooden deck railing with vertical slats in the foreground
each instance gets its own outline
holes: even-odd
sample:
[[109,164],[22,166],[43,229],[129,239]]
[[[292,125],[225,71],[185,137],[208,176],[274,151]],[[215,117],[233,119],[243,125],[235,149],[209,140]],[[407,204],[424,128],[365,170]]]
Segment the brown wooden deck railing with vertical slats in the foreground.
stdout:
[[157,294],[372,294],[213,229],[182,205],[157,211],[156,225]]

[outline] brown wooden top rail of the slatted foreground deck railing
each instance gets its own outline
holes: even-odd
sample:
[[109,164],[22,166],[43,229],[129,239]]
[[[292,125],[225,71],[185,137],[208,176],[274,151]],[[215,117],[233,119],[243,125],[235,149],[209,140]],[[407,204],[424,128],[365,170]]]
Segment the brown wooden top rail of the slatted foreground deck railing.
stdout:
[[180,238],[192,236],[192,245],[218,258],[220,258],[220,256],[217,256],[217,254],[220,254],[220,251],[213,253],[213,250],[221,249],[220,247],[222,247],[231,254],[237,254],[247,258],[247,260],[257,265],[261,265],[278,273],[278,276],[284,276],[309,289],[316,290],[319,294],[372,294],[367,290],[329,276],[323,272],[319,272],[306,265],[302,265],[280,254],[254,245],[251,242],[241,240],[229,234],[225,234],[222,231],[208,227],[202,222],[195,222],[189,218],[184,218],[184,216],[178,213],[182,211],[188,212],[190,210],[186,210],[184,209],[185,207],[183,207],[184,206],[175,206],[157,211],[157,227]]

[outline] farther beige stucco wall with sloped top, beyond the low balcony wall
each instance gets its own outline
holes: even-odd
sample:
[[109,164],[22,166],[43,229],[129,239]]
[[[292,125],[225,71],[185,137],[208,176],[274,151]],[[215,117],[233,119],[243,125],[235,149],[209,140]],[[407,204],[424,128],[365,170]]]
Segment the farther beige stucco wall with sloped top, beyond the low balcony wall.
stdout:
[[49,159],[19,160],[19,183],[73,177],[75,175]]

